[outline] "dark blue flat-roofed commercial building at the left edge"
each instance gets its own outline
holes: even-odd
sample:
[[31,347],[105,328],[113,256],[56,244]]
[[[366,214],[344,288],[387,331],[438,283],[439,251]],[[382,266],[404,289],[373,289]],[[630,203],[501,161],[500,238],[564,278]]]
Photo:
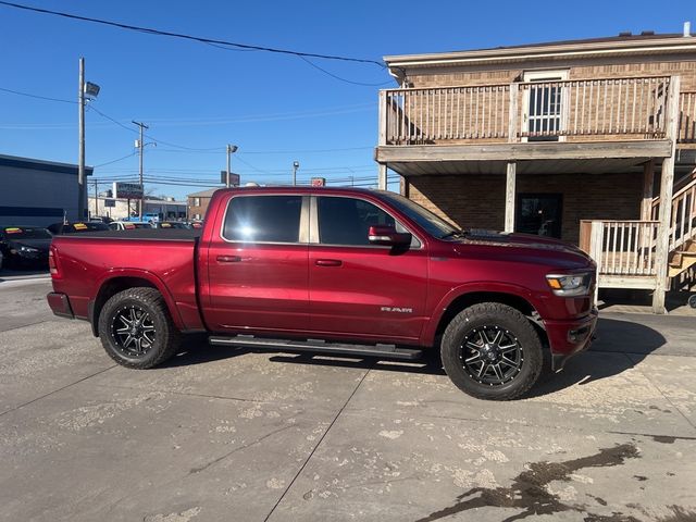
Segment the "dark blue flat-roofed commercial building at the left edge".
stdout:
[[0,225],[74,221],[77,192],[77,165],[0,154]]

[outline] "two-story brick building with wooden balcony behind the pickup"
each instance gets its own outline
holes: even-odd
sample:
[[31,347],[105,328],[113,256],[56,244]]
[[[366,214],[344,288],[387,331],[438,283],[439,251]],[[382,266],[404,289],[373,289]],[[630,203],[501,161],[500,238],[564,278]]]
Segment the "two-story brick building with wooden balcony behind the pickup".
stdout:
[[[696,37],[386,57],[380,185],[465,228],[575,243],[654,310],[696,263]],[[667,201],[667,204],[661,204]],[[693,274],[692,274],[693,275]]]

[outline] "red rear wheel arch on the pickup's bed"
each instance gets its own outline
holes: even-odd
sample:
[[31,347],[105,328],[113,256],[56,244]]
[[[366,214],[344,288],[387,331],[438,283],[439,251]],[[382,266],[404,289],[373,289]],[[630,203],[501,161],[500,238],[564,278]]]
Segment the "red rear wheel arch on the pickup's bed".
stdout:
[[178,314],[174,299],[159,277],[146,271],[119,271],[110,273],[97,284],[99,290],[96,293],[95,299],[89,302],[89,322],[95,337],[99,337],[99,315],[101,314],[104,303],[120,291],[136,287],[154,288],[158,290],[164,298],[174,325],[179,330],[183,328],[183,321]]

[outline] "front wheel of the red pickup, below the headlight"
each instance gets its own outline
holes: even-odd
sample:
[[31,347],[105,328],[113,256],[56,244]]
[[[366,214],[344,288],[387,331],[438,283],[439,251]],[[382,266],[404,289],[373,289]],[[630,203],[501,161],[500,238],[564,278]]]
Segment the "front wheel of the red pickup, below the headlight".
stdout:
[[524,395],[544,365],[542,341],[526,318],[499,302],[483,302],[449,323],[440,346],[443,365],[462,391],[488,400]]

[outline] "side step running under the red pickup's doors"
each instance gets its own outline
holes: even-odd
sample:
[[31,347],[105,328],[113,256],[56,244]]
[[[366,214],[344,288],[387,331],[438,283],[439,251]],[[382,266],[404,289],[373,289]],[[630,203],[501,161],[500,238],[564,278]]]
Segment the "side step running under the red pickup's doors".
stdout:
[[229,337],[211,336],[208,341],[215,346],[239,346],[257,350],[311,351],[319,353],[336,353],[343,356],[385,357],[413,361],[423,355],[423,350],[397,348],[395,345],[347,345],[326,343],[319,339],[288,340],[268,339],[252,335],[235,335]]

